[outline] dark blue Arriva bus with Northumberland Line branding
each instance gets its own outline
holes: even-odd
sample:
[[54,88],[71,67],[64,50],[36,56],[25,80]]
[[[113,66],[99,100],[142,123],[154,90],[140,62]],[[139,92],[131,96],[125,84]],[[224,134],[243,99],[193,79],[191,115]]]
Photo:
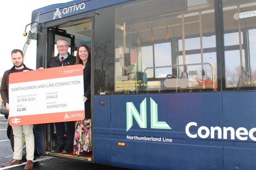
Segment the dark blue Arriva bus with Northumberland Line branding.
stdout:
[[37,154],[138,170],[255,169],[255,0],[74,0],[33,11],[27,35],[35,68],[48,68],[60,38],[72,55],[80,44],[92,51],[92,152],[50,153],[49,123],[34,125]]

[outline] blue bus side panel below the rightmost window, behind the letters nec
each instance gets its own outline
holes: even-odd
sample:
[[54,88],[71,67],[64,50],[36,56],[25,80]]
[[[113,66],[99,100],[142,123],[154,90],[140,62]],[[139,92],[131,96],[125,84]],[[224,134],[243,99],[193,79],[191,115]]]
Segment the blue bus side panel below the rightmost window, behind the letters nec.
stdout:
[[[224,169],[238,167],[239,169],[252,169],[256,166],[256,143],[250,136],[247,140],[239,140],[236,130],[244,127],[249,133],[252,128],[256,127],[255,117],[255,92],[231,92],[223,93],[223,127],[233,127],[235,139],[231,139],[228,133],[227,139],[224,139]],[[244,131],[241,131],[242,133]],[[253,133],[256,137],[256,132]]]

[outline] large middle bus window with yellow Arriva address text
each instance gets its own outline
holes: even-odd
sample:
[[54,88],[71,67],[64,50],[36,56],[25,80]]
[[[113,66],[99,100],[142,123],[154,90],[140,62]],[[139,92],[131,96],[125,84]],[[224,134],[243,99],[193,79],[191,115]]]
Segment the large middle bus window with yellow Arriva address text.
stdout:
[[155,3],[142,0],[116,8],[115,92],[215,89],[214,1]]

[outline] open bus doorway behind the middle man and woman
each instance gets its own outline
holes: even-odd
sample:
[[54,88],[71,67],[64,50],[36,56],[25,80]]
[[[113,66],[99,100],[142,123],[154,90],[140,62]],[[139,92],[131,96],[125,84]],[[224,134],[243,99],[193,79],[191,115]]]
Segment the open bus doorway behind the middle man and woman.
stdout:
[[[84,20],[68,22],[59,26],[54,26],[48,28],[48,39],[47,39],[47,59],[46,65],[49,67],[49,61],[52,57],[58,55],[56,42],[59,39],[67,40],[69,49],[68,53],[73,56],[76,56],[76,48],[81,44],[86,44],[91,48],[91,35],[92,35],[92,20],[87,18]],[[67,131],[67,126],[65,124]],[[66,157],[69,159],[78,159],[83,161],[91,161],[92,153],[85,154],[84,156],[78,157],[73,154],[73,152],[68,154],[60,153],[50,153],[50,151],[57,146],[57,136],[56,136],[56,127],[54,123],[49,123],[46,125],[46,142],[45,150],[46,155],[57,156],[57,157]]]

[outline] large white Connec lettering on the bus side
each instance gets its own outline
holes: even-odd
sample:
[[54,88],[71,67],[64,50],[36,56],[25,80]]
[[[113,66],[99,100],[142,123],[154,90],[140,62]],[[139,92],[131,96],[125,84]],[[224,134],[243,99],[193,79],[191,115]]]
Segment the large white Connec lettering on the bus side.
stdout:
[[[209,135],[211,135],[211,139],[214,139],[214,132],[215,130],[218,131],[218,139],[222,139],[222,129],[221,127],[210,127],[211,131],[209,130],[208,127],[206,126],[201,126],[198,128],[198,133],[196,134],[191,134],[189,132],[189,128],[191,126],[196,126],[197,127],[197,123],[196,122],[189,122],[186,125],[186,134],[187,136],[189,136],[190,138],[197,138],[197,136],[199,136],[200,138],[208,138]],[[205,134],[202,134],[202,130],[205,130]],[[230,131],[230,139],[235,140],[235,129],[233,127],[223,127],[223,139],[227,139],[227,132]],[[252,128],[249,130],[249,137],[250,139],[252,139],[253,141],[256,141],[256,137],[253,136],[253,133],[256,132],[256,127]],[[241,136],[243,135],[243,136]],[[236,137],[239,140],[245,141],[248,139],[248,130],[244,127],[239,127],[236,130]]]

